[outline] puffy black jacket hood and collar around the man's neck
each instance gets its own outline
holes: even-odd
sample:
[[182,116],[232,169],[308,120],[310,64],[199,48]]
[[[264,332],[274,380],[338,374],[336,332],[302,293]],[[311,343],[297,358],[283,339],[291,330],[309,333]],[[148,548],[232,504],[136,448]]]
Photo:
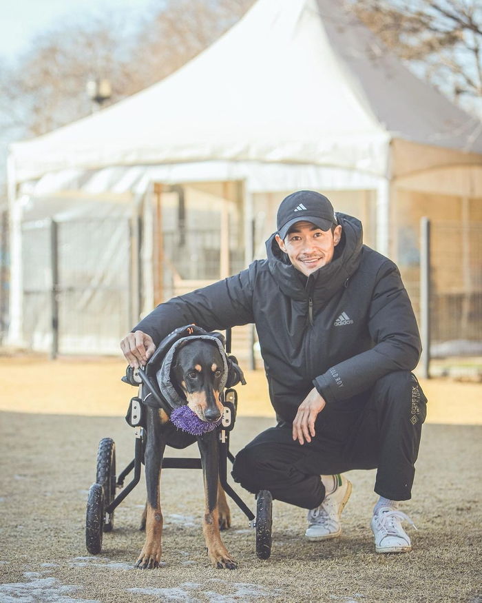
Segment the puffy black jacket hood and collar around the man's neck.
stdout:
[[308,278],[282,252],[275,240],[276,233],[266,241],[269,271],[285,295],[294,300],[306,300],[309,296],[316,304],[326,303],[356,272],[363,246],[362,223],[353,216],[338,212],[337,218],[342,225],[342,238],[335,247],[333,259]]

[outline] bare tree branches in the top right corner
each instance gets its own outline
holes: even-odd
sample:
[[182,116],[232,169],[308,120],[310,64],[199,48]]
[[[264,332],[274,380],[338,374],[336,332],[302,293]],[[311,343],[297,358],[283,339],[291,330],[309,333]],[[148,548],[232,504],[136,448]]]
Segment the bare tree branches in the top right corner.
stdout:
[[354,0],[357,15],[416,70],[468,108],[482,99],[480,0]]

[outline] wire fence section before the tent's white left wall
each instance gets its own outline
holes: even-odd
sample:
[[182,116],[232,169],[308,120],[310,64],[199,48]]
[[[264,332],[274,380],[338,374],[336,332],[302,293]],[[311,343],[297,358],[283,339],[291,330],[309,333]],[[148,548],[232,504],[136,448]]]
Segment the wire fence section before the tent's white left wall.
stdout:
[[52,356],[118,351],[131,327],[129,221],[23,223],[22,241],[25,345]]

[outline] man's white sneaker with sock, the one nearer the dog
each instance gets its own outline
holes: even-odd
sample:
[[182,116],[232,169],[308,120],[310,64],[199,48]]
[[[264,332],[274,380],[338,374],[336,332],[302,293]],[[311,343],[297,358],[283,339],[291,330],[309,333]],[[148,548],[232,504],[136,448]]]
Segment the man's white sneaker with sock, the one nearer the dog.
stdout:
[[305,532],[308,540],[328,540],[342,533],[340,516],[351,494],[351,482],[343,476],[337,479],[335,489],[325,496],[322,504],[308,511],[308,529]]

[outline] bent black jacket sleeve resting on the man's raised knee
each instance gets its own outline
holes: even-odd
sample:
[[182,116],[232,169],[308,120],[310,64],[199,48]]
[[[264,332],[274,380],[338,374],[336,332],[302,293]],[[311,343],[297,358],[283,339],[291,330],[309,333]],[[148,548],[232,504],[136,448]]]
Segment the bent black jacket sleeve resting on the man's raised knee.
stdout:
[[412,371],[421,354],[417,321],[400,273],[391,261],[381,265],[368,312],[375,346],[331,367],[313,380],[326,402],[351,398],[392,371]]

